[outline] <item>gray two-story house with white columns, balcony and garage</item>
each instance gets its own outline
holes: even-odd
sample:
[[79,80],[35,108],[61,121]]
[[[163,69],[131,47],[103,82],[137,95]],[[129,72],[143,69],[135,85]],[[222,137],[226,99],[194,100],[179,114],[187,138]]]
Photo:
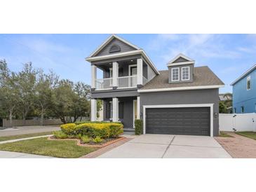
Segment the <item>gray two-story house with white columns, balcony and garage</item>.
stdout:
[[180,54],[159,71],[144,50],[116,35],[86,60],[91,64],[91,121],[100,99],[105,121],[134,128],[140,118],[144,134],[219,134],[219,88],[224,83],[208,67],[194,67],[194,60]]

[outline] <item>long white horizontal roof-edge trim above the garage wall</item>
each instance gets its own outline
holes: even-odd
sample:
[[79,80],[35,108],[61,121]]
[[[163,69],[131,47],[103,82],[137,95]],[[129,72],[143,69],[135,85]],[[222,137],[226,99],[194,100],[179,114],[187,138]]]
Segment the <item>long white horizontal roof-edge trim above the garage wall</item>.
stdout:
[[174,90],[199,90],[199,89],[215,89],[224,88],[224,85],[203,85],[203,86],[190,86],[179,88],[157,88],[157,89],[140,89],[137,92],[160,92],[160,91],[174,91]]

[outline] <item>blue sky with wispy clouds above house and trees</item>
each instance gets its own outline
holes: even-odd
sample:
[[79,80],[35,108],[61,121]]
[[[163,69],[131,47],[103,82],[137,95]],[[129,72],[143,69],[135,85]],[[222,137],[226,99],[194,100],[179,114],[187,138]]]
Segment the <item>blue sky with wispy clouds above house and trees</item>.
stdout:
[[[178,53],[208,65],[226,84],[220,92],[231,92],[229,84],[256,63],[255,34],[118,34],[143,48],[159,70]],[[13,71],[32,62],[60,78],[90,84],[90,64],[85,61],[109,34],[0,34],[0,59]]]

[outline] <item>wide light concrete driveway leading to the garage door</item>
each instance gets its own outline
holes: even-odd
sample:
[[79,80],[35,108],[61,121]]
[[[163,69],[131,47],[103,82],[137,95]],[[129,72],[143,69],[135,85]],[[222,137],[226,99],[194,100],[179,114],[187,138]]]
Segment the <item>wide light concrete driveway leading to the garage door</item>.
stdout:
[[188,135],[140,135],[97,158],[231,158],[213,138]]

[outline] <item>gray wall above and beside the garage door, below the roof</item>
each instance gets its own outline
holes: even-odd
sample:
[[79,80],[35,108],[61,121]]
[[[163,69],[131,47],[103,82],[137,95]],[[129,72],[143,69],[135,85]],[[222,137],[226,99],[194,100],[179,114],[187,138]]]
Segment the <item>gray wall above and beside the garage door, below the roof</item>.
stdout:
[[213,135],[217,136],[219,135],[219,89],[140,93],[140,111],[143,111],[143,105],[209,103],[214,104],[213,113],[217,113],[217,118],[211,117]]

